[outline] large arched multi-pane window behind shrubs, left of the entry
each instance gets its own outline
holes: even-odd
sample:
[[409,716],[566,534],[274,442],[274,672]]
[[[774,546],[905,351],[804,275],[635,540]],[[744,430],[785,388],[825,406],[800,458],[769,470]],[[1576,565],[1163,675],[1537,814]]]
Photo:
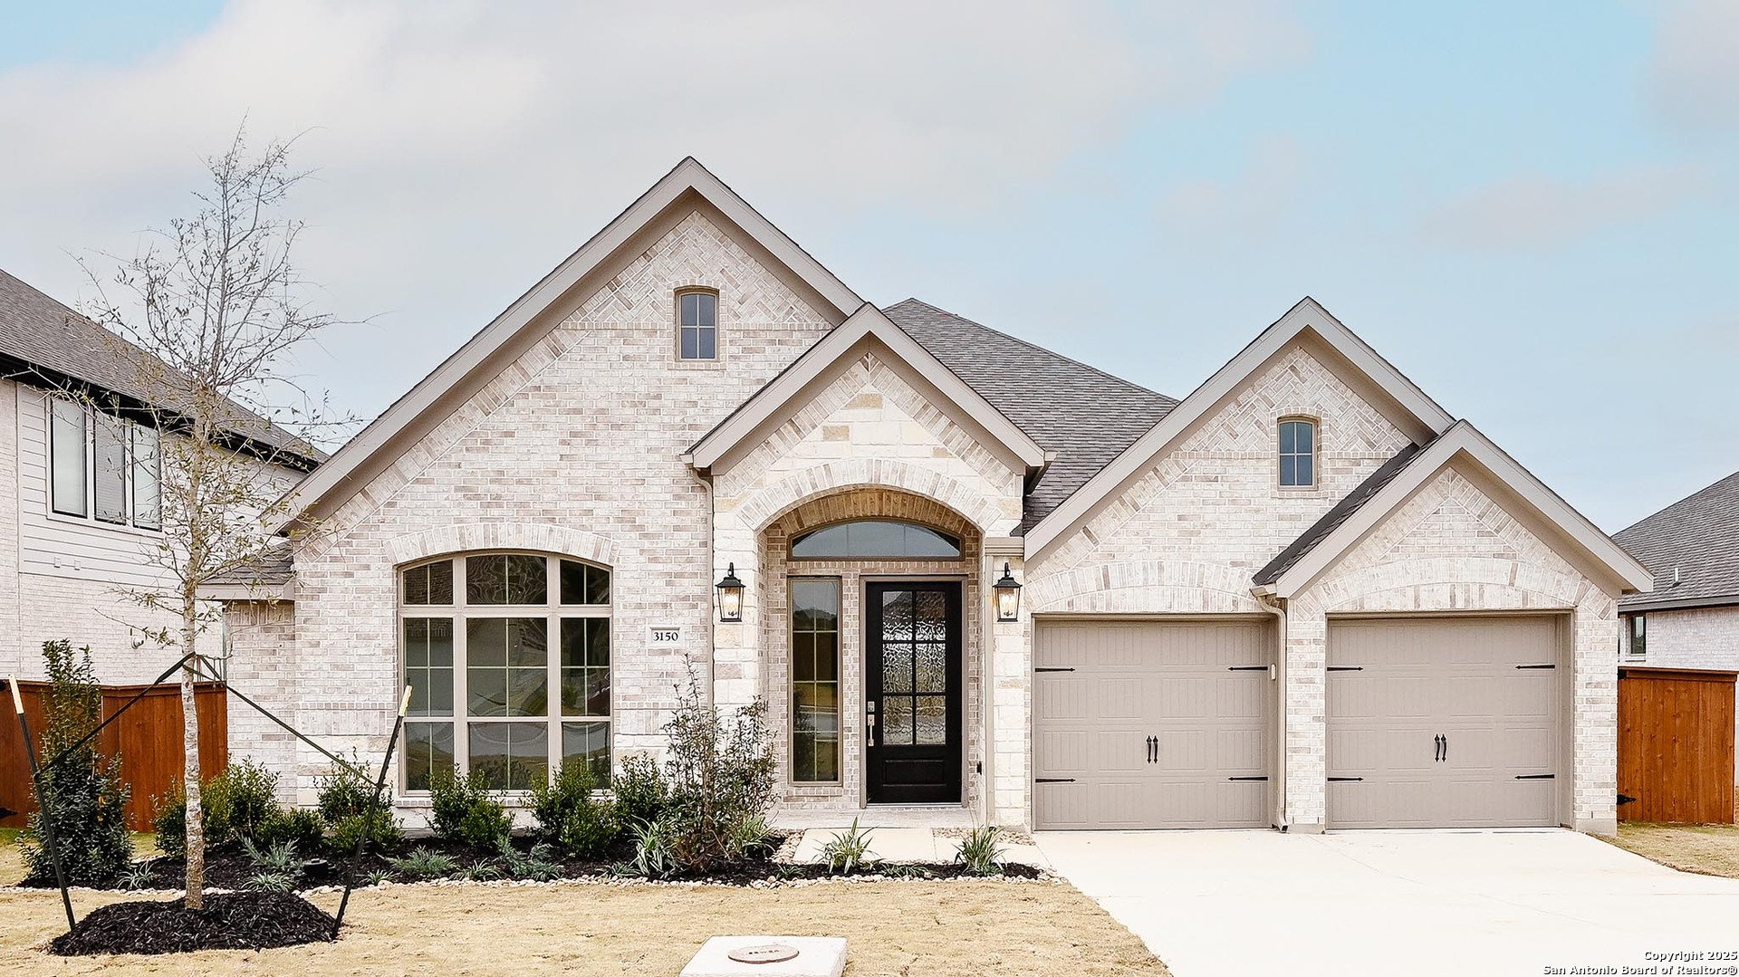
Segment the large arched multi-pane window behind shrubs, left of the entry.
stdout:
[[478,772],[529,791],[550,770],[610,770],[610,572],[532,553],[475,553],[400,574],[405,789]]

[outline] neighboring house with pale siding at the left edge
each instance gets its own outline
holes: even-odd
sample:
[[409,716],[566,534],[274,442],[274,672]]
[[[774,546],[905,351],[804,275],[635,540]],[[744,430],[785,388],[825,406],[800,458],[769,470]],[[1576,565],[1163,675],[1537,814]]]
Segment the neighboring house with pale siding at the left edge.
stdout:
[[[169,582],[153,562],[162,412],[139,409],[174,407],[153,393],[162,370],[0,271],[0,675],[42,678],[42,643],[56,638],[90,645],[104,683],[150,681],[179,657],[139,633],[174,617],[127,596]],[[259,454],[285,488],[318,462],[316,450],[259,426],[270,445]],[[200,650],[221,655],[223,636],[212,631]]]

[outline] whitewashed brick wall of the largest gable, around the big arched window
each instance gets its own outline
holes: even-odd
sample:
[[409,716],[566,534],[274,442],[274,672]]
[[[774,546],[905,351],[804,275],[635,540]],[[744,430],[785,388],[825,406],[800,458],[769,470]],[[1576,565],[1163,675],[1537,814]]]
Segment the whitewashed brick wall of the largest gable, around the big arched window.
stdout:
[[[682,287],[718,290],[716,362],[676,358]],[[299,546],[294,692],[268,704],[377,761],[398,699],[396,565],[555,551],[610,565],[614,749],[659,748],[678,683],[708,678],[715,619],[711,502],[680,455],[828,329],[722,226],[682,219]],[[682,647],[654,652],[650,626],[682,628]],[[237,657],[270,641],[238,636]],[[306,789],[325,760],[296,749]]]

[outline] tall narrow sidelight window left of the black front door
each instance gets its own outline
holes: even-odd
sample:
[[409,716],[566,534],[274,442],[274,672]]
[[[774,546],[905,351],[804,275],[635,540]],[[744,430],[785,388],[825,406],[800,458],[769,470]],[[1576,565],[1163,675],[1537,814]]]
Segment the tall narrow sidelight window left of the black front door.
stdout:
[[791,581],[791,781],[840,779],[840,581]]

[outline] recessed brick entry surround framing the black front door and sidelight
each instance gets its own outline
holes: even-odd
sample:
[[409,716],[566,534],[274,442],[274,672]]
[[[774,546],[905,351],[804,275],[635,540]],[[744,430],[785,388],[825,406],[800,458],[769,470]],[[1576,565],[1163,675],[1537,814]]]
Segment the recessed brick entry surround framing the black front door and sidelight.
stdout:
[[[892,518],[915,522],[956,535],[962,541],[960,560],[790,560],[791,539],[821,525]],[[962,754],[963,807],[981,810],[983,777],[976,772],[984,760],[984,655],[981,608],[988,596],[981,586],[981,537],[977,528],[958,513],[934,499],[894,492],[889,488],[845,490],[814,499],[774,520],[762,534],[760,565],[763,567],[760,603],[765,615],[760,633],[762,675],[770,709],[769,721],[779,735],[779,781],[784,793],[779,815],[791,819],[800,812],[840,812],[850,817],[864,807],[864,581],[894,575],[927,575],[962,581]],[[793,784],[790,781],[790,577],[836,577],[840,581],[840,782]],[[729,669],[722,664],[720,669]],[[720,678],[732,676],[722,671]]]

